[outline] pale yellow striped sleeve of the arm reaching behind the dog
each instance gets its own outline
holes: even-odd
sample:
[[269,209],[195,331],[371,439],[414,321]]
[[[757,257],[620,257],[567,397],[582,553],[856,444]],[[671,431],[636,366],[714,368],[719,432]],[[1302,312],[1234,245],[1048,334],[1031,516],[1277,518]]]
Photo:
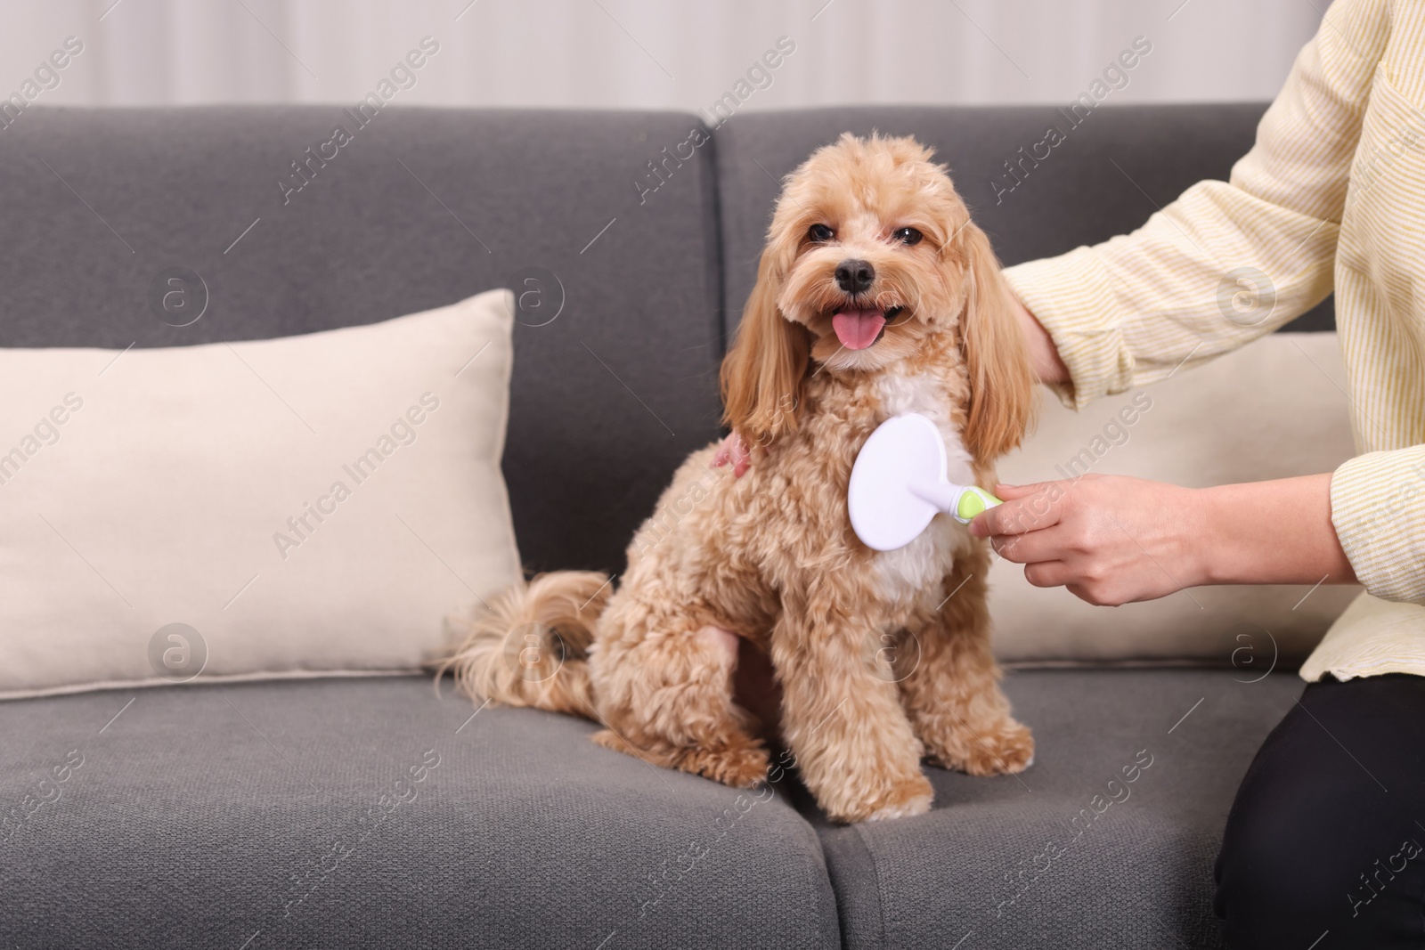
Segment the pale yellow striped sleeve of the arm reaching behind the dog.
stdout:
[[1331,7],[1227,182],[1193,185],[1133,234],[1005,271],[1069,367],[1066,404],[1220,356],[1331,292],[1384,6]]

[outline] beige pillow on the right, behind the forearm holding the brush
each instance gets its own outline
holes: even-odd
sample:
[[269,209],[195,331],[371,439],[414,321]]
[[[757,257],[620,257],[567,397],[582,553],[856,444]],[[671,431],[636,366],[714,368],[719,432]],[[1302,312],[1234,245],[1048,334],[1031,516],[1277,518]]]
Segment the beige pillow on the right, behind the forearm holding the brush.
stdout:
[[[1271,333],[1082,413],[1047,396],[1039,427],[1000,461],[1009,483],[1129,474],[1204,487],[1332,471],[1354,454],[1335,333]],[[1298,664],[1359,587],[1208,587],[1092,607],[990,568],[996,654],[1009,662],[1194,661],[1243,679]]]

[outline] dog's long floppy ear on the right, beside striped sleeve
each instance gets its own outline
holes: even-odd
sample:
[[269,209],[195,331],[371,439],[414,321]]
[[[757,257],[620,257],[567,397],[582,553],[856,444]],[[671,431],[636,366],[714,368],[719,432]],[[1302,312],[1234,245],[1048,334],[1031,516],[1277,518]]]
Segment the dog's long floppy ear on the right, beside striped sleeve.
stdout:
[[970,376],[965,447],[988,461],[1019,444],[1035,414],[1035,376],[1023,330],[989,238],[973,222],[959,235],[969,282],[960,349]]

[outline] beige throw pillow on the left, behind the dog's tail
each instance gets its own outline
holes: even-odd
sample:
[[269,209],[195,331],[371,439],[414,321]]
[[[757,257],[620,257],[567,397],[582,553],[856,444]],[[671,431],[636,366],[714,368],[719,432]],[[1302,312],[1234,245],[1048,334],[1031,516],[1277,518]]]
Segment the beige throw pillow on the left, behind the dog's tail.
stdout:
[[520,577],[512,306],[0,350],[0,698],[429,659]]

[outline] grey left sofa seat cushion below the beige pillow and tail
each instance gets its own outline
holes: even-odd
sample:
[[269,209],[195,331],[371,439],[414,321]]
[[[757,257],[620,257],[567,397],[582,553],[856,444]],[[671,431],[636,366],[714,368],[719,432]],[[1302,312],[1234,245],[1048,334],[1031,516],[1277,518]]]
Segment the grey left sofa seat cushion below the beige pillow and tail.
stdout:
[[0,946],[836,946],[784,796],[473,712],[422,677],[3,704]]

